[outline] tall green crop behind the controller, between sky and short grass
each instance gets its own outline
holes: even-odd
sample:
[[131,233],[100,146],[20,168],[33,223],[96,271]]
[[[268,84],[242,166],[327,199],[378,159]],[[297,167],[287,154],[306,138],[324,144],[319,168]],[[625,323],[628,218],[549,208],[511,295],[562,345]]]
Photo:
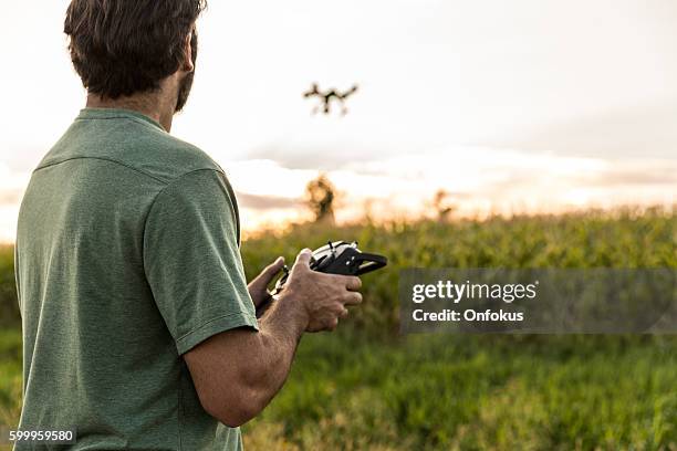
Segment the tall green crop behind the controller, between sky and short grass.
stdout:
[[396,334],[398,271],[403,268],[677,268],[677,211],[589,211],[488,221],[303,227],[244,242],[253,276],[275,255],[289,263],[298,250],[327,240],[357,240],[384,253],[388,266],[363,277],[366,302],[350,323],[369,334]]

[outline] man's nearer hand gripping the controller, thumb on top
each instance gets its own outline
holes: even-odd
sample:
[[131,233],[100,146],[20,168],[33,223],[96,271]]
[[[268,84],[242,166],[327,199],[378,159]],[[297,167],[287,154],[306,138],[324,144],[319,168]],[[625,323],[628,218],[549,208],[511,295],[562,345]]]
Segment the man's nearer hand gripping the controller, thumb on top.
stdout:
[[296,303],[305,316],[305,332],[333,331],[338,318],[348,314],[347,305],[362,302],[357,292],[362,281],[355,275],[324,274],[310,269],[311,250],[304,249],[296,256],[281,303]]

